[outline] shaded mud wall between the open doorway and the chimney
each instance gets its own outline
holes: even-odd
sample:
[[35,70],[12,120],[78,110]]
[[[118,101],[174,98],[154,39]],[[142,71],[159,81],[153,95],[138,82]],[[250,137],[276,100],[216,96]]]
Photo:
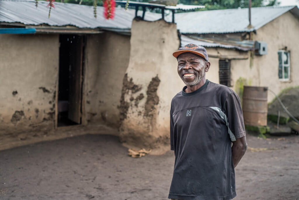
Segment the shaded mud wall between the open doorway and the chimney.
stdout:
[[130,37],[112,32],[88,35],[85,55],[83,123],[118,128],[118,106],[129,63]]

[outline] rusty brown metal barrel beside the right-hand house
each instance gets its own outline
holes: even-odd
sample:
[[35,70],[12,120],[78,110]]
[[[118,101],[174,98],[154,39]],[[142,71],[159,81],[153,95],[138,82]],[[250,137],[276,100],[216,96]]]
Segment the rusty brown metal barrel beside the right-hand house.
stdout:
[[267,125],[267,97],[268,87],[244,86],[242,110],[245,125]]

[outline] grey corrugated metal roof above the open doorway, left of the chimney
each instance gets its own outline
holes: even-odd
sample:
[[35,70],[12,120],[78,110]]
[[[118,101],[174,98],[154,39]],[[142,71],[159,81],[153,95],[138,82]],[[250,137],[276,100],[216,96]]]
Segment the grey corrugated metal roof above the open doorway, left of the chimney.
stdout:
[[[135,17],[135,10],[115,8],[113,20],[103,17],[103,7],[97,7],[97,18],[93,16],[93,7],[79,4],[55,3],[48,18],[48,2],[39,1],[35,7],[34,1],[0,0],[0,22],[20,22],[25,25],[48,24],[51,26],[74,25],[79,28],[117,28],[130,29]],[[138,11],[142,15],[142,11]],[[146,12],[145,20],[155,21],[161,19],[161,14]]]

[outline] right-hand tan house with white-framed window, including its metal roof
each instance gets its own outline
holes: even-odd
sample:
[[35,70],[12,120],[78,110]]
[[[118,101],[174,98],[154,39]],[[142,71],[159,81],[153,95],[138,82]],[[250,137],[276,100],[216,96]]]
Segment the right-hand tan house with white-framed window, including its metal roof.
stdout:
[[[184,23],[191,19],[198,26]],[[297,6],[252,8],[251,25],[248,9],[178,13],[176,23],[189,37],[184,37],[185,43],[191,37],[207,47],[215,66],[208,77],[231,87],[240,97],[243,84],[267,86],[275,93],[299,84]],[[268,93],[268,101],[273,98]]]

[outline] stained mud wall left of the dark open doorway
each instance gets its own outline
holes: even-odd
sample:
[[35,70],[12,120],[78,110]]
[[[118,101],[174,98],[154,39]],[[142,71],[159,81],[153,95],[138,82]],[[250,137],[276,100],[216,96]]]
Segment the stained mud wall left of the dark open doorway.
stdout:
[[0,43],[0,136],[46,134],[54,129],[59,36],[0,34]]

